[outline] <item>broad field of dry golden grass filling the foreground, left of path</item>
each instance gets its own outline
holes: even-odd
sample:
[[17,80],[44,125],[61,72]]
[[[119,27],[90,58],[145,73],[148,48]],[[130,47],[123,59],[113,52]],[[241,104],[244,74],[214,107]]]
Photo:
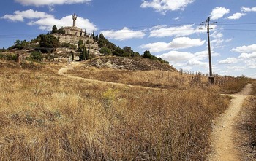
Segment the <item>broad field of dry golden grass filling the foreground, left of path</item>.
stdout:
[[101,84],[60,76],[63,66],[0,62],[0,160],[206,160],[213,120],[230,103],[218,85],[95,69],[101,80],[143,87]]

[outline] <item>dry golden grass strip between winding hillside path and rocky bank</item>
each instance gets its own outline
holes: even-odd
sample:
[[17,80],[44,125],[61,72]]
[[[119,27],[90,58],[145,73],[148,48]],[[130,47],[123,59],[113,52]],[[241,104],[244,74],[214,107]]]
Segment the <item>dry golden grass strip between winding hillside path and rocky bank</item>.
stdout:
[[[192,86],[205,86],[206,76],[181,75],[176,71],[129,71],[113,68],[76,67],[67,74],[86,79],[97,79],[105,82],[116,82],[127,85],[155,87],[163,89],[188,89]],[[197,82],[192,82],[197,77]]]

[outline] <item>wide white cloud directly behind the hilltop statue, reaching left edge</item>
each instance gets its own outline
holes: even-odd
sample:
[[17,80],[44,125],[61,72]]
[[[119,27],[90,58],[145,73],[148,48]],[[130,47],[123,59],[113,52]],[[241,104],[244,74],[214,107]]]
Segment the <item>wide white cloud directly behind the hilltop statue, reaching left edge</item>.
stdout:
[[[13,15],[4,15],[1,19],[11,20],[13,22],[24,22],[26,19],[29,20],[28,25],[38,25],[39,29],[49,31],[56,25],[57,28],[62,26],[71,26],[72,25],[72,16],[68,15],[62,17],[61,19],[56,19],[53,15],[49,15],[45,12],[38,12],[32,9],[26,11],[15,11]],[[97,31],[96,25],[91,23],[88,19],[83,17],[78,17],[77,26],[79,28],[85,28],[86,31]]]

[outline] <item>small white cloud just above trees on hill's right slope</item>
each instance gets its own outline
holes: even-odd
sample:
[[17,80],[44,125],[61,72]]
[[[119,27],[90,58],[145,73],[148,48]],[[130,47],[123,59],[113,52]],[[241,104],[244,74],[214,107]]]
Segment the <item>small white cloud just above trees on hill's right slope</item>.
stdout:
[[124,27],[121,30],[113,31],[102,31],[102,34],[108,39],[116,40],[127,40],[127,39],[142,39],[146,34],[143,31],[132,31],[127,27]]

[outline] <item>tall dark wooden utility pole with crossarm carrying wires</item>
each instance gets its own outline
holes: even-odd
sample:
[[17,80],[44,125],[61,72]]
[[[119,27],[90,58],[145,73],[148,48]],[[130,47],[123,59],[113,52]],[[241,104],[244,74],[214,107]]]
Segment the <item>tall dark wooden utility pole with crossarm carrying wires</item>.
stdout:
[[[210,71],[209,81],[211,82],[211,84],[214,84],[214,76],[212,75],[212,68],[211,68],[210,17],[207,18],[206,22],[202,22],[202,23],[205,24],[207,28],[208,57],[209,57],[209,71]],[[214,23],[211,23],[211,25],[213,25]]]

